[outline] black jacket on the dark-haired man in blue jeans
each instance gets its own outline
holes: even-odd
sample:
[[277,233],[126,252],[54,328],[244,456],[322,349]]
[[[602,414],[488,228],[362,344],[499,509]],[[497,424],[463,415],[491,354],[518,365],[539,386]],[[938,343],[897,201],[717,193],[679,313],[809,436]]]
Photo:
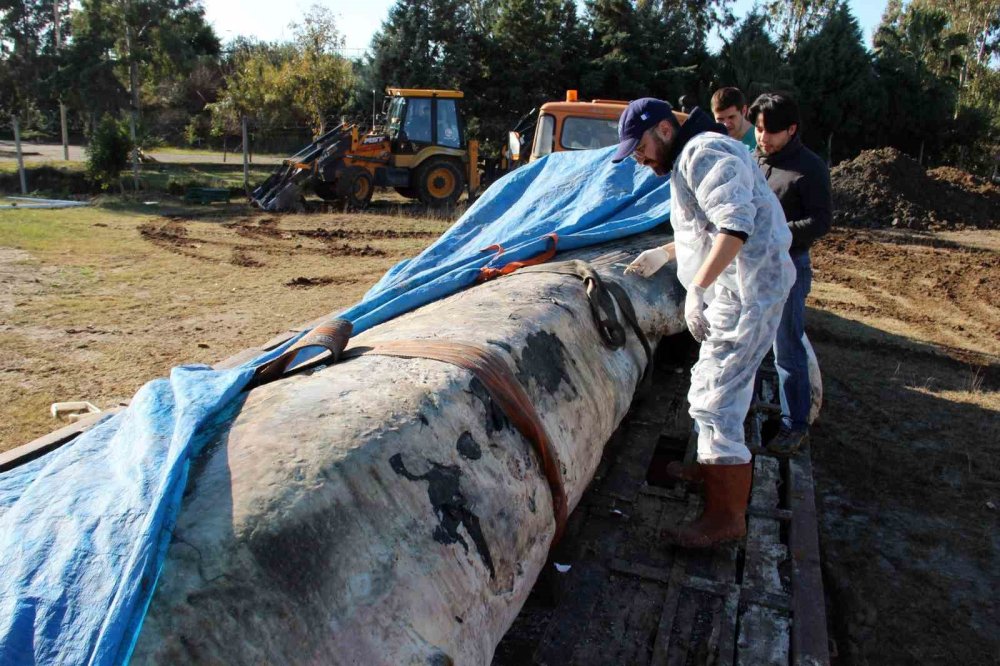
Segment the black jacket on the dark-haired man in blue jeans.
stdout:
[[798,134],[774,155],[757,148],[757,164],[777,195],[792,231],[792,252],[808,250],[830,230],[833,202],[830,170],[819,155],[802,145]]

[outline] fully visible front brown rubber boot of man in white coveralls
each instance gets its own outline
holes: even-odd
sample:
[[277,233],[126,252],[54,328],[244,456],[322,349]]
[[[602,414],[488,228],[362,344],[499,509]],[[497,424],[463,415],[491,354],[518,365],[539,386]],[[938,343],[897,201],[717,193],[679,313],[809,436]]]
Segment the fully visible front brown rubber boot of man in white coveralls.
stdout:
[[701,516],[692,523],[667,530],[667,538],[683,548],[711,548],[742,539],[747,533],[751,463],[701,465],[701,474],[705,482],[705,508]]

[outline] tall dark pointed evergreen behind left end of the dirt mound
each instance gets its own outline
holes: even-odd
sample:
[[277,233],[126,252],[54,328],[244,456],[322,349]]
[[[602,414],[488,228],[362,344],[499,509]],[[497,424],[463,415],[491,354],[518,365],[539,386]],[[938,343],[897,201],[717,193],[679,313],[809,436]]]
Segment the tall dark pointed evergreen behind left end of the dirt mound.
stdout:
[[862,44],[861,28],[846,5],[834,9],[818,31],[802,41],[791,64],[806,144],[833,161],[865,147],[886,100]]

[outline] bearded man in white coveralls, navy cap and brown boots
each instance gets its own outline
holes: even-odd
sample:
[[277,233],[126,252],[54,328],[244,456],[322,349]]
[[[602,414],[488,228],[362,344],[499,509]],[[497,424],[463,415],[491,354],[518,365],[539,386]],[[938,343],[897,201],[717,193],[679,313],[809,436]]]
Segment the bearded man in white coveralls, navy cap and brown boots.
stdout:
[[631,155],[656,175],[670,175],[674,242],[646,250],[626,272],[649,277],[676,259],[687,289],[684,317],[701,343],[688,393],[698,462],[675,463],[668,472],[702,481],[705,508],[669,536],[706,548],[746,534],[751,463],[743,421],[795,281],[792,236],[746,146],[701,109],[680,125],[668,102],[637,99],[622,114],[618,134],[613,161]]

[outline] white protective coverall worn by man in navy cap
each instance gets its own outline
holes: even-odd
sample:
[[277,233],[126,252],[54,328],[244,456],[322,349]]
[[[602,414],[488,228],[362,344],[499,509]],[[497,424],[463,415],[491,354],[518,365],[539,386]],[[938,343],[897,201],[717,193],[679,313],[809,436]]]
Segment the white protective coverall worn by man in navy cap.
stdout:
[[705,291],[711,327],[691,370],[688,401],[698,424],[698,462],[750,461],[743,421],[754,376],[771,348],[795,281],[792,234],[777,197],[746,146],[702,132],[681,150],[670,177],[677,277],[685,289],[720,228],[747,234],[736,259]]

